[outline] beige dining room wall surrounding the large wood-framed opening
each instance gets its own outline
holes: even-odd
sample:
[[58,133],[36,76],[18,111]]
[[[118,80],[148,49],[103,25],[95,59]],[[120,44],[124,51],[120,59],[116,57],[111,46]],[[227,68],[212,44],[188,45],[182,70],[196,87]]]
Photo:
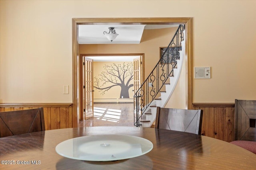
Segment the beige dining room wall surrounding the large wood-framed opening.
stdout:
[[104,17],[192,17],[193,102],[256,100],[256,1],[1,0],[0,102],[72,102],[72,18]]

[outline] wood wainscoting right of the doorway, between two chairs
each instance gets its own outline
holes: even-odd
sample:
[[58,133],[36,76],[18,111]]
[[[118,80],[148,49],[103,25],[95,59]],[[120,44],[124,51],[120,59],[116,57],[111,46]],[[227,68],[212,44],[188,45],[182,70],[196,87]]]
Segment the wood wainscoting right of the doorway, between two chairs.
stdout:
[[234,103],[193,103],[203,110],[202,135],[231,142],[234,140]]

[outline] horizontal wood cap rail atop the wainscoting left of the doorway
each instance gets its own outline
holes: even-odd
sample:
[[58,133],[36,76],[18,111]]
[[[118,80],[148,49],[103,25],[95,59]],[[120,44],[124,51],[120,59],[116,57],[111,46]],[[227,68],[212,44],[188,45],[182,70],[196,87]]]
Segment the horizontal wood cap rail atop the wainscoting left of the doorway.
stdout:
[[72,107],[72,103],[0,103],[0,107]]

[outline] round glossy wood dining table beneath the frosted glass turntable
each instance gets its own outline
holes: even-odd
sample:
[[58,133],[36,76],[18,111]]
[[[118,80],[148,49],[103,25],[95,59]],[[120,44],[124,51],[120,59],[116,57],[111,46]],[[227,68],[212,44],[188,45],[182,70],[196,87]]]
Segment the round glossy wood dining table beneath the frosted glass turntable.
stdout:
[[[55,151],[68,139],[88,135],[132,135],[153,149],[134,158],[85,161]],[[256,170],[256,154],[211,137],[144,127],[81,127],[0,138],[0,170]]]

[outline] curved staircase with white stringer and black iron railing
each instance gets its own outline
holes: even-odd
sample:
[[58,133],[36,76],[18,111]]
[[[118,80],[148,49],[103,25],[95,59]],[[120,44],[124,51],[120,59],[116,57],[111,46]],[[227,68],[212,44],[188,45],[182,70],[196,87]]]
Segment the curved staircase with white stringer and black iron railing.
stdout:
[[152,127],[156,107],[164,107],[179,80],[185,55],[185,25],[179,25],[172,41],[148,78],[134,95],[134,125]]

